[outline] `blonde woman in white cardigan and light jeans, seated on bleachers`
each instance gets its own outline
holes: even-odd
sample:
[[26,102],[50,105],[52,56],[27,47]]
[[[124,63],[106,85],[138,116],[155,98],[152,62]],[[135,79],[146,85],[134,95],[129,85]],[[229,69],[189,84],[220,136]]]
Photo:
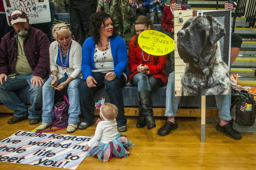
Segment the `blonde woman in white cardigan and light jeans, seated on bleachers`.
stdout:
[[53,26],[52,35],[56,41],[52,42],[49,48],[51,74],[43,86],[42,124],[36,130],[44,130],[54,122],[55,90],[60,91],[68,86],[70,107],[67,132],[72,133],[79,123],[78,86],[83,78],[81,74],[82,48],[78,42],[71,40],[71,31],[64,23]]

